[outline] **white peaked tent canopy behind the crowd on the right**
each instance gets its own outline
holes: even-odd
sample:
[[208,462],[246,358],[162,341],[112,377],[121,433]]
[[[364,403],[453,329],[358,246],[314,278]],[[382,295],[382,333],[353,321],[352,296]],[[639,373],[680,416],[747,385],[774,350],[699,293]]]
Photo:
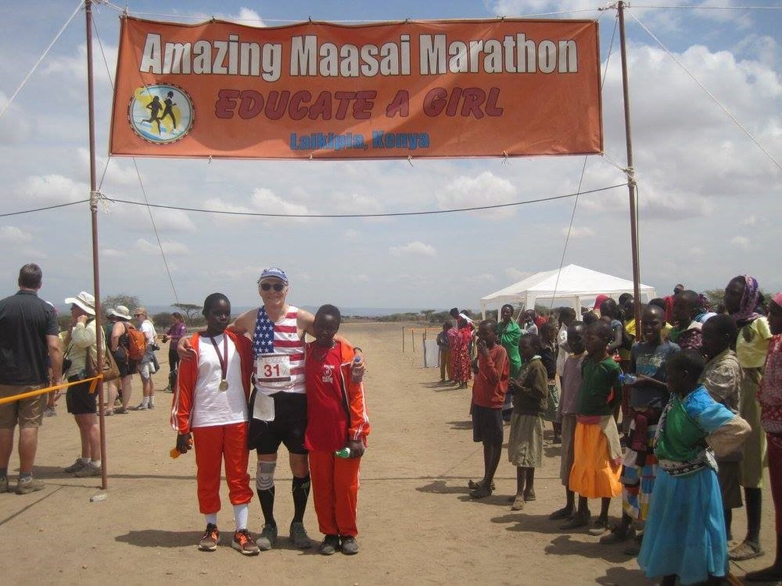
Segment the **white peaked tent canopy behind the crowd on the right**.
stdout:
[[[486,317],[487,308],[499,309],[505,303],[522,304],[525,308],[532,309],[536,303],[548,305],[553,300],[555,306],[571,306],[576,309],[576,315],[579,316],[583,299],[594,299],[601,294],[618,299],[622,293],[633,295],[632,280],[598,273],[583,266],[568,265],[561,270],[535,273],[532,277],[482,297],[481,311]],[[640,285],[641,302],[649,302],[655,296],[655,288]]]

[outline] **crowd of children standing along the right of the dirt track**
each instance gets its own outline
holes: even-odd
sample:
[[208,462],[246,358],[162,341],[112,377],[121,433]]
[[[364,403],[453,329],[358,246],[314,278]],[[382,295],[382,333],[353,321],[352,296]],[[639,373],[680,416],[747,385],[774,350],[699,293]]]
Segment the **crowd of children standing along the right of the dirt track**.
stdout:
[[[507,395],[508,459],[517,470],[508,500],[514,511],[535,500],[543,421],[553,410],[565,506],[550,519],[565,520],[562,531],[584,527],[602,544],[635,538],[626,553],[662,584],[717,583],[729,559],[763,554],[760,486],[768,465],[777,556],[745,579],[782,579],[782,293],[763,299],[757,281],[741,275],[711,312],[703,295],[677,285],[674,295],[642,307],[640,324],[632,296],[619,302],[599,296],[583,321],[561,309],[558,327],[522,314],[511,338],[516,367],[501,341],[516,329],[508,327],[513,308],[500,310],[499,323],[479,324],[471,413],[484,475],[469,481],[470,495],[495,490]],[[747,534],[729,551],[742,492]],[[622,518],[610,527],[610,502],[620,495]],[[601,499],[594,520],[590,498]]]

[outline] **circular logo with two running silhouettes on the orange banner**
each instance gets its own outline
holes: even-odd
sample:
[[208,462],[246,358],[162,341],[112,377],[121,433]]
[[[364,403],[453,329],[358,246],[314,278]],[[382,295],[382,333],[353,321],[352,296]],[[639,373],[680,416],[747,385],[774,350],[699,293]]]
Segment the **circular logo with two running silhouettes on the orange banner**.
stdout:
[[127,107],[127,120],[139,137],[156,145],[168,145],[188,134],[195,119],[187,92],[171,84],[136,88]]

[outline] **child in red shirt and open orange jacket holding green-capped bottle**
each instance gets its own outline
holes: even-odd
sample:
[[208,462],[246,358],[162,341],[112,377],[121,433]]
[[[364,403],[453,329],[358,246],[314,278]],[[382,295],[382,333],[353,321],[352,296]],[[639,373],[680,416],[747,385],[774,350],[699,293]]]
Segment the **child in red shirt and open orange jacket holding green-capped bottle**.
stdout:
[[369,434],[364,384],[353,373],[355,348],[336,341],[341,315],[335,306],[315,313],[315,341],[307,344],[307,431],[315,513],[325,538],[320,552],[358,553],[358,471]]

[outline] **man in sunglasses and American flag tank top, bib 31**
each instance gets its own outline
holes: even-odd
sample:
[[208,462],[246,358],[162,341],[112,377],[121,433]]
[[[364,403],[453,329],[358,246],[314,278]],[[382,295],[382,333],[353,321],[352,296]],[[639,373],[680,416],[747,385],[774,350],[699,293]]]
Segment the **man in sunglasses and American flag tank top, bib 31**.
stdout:
[[[253,341],[255,388],[249,401],[247,443],[258,456],[256,489],[264,514],[264,528],[256,538],[261,551],[274,547],[277,521],[274,520],[274,470],[280,444],[288,448],[292,480],[293,520],[290,539],[297,548],[312,545],[304,528],[304,511],[310,496],[310,466],[304,448],[307,430],[307,395],[304,385],[304,334],[314,337],[312,313],[286,302],[288,275],[271,266],[260,273],[258,293],[264,305],[250,309],[236,318],[228,329],[244,334]],[[338,341],[348,344],[344,338]],[[360,360],[357,370],[364,370],[361,348],[354,348]],[[189,342],[179,343],[182,359],[192,356]]]

